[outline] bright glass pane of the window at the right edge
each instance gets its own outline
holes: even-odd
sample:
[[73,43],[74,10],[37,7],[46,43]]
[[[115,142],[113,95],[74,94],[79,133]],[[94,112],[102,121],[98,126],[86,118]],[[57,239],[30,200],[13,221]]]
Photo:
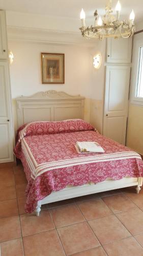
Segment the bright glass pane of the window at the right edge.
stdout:
[[135,97],[143,98],[143,47],[139,47]]

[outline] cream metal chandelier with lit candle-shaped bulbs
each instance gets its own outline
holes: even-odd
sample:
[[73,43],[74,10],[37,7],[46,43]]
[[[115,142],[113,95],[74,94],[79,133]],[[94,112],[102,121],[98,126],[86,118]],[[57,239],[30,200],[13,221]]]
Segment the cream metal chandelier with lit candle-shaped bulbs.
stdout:
[[134,11],[130,13],[129,20],[120,20],[120,11],[121,11],[121,4],[118,1],[116,5],[116,17],[112,14],[111,8],[111,0],[107,1],[107,5],[105,8],[105,14],[101,18],[98,15],[97,10],[94,12],[95,23],[94,26],[86,26],[85,25],[85,12],[83,9],[80,12],[80,19],[82,27],[79,28],[81,30],[81,34],[83,37],[91,38],[99,38],[103,40],[107,37],[113,38],[128,38],[132,36],[135,32],[135,25],[134,25]]

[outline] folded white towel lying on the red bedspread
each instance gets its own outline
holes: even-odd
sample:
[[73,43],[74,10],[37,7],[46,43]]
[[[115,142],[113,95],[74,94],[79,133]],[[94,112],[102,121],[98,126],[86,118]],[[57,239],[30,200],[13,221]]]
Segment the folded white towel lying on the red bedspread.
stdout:
[[77,141],[76,146],[78,147],[79,152],[91,152],[91,153],[104,153],[102,146],[100,146],[97,142],[89,142],[89,141]]

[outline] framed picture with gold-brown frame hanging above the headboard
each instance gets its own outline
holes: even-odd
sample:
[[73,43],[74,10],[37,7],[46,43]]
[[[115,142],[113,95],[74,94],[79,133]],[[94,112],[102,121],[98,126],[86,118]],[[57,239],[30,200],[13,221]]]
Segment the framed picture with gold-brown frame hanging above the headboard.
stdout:
[[41,53],[42,83],[65,83],[65,54]]

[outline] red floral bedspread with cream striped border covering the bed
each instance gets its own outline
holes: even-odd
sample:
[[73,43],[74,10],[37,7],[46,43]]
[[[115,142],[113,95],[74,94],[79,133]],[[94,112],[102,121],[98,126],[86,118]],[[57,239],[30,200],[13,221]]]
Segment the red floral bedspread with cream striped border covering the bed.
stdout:
[[[22,128],[14,153],[28,181],[25,212],[33,212],[37,201],[67,185],[143,177],[143,162],[137,153],[100,135],[83,120],[34,122]],[[78,154],[76,141],[96,141],[105,153]]]

